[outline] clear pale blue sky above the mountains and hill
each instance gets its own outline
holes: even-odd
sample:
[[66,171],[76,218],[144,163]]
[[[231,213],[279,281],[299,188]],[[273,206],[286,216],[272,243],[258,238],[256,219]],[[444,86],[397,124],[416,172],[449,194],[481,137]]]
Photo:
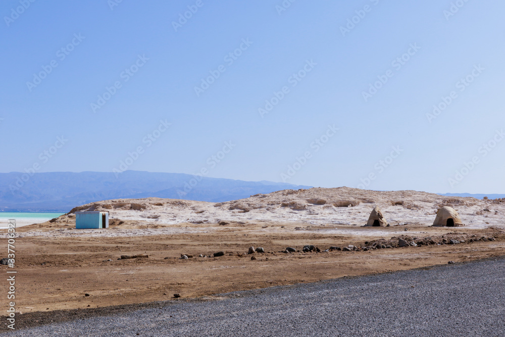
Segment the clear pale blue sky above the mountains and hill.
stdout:
[[6,0],[0,172],[503,193],[504,10]]

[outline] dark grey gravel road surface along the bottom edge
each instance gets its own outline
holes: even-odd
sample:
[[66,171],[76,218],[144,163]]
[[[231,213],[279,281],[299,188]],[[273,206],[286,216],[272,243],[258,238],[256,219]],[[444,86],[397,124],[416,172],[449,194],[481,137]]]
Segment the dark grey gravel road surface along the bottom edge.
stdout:
[[219,296],[9,335],[505,336],[504,258]]

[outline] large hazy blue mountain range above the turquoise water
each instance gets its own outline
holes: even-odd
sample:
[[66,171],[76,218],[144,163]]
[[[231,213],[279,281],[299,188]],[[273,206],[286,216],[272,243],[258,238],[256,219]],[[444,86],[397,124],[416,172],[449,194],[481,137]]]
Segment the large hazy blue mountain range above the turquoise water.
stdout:
[[0,173],[0,211],[68,212],[90,202],[121,198],[225,202],[310,187],[144,171],[124,171],[117,177],[112,172],[10,172]]

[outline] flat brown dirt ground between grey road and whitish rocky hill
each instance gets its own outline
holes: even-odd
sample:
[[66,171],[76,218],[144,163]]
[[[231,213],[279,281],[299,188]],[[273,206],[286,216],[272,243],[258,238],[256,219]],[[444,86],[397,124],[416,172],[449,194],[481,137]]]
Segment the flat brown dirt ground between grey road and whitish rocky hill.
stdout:
[[[175,293],[182,298],[195,298],[505,255],[505,231],[501,229],[415,225],[407,226],[410,232],[405,233],[422,231],[423,234],[416,234],[422,237],[453,232],[463,236],[485,235],[495,240],[368,252],[285,254],[278,251],[286,247],[301,249],[308,244],[321,249],[363,246],[365,241],[377,236],[367,236],[370,229],[364,227],[351,228],[363,231],[362,235],[341,236],[310,229],[295,231],[295,224],[283,223],[285,228],[280,224],[270,225],[272,231],[261,234],[254,227],[226,228],[216,224],[219,231],[197,234],[19,238],[16,240],[16,308],[19,313],[28,314],[167,301]],[[342,228],[349,229],[349,226]],[[382,237],[389,238],[394,236],[390,234],[393,231],[397,234],[398,228],[374,230],[382,230]],[[260,246],[273,253],[255,254],[257,260],[251,260],[251,255],[245,254],[249,246]],[[199,254],[218,251],[226,252],[225,256],[198,258]],[[180,260],[182,253],[192,254],[194,258]],[[118,260],[121,255],[133,254],[149,257]],[[7,277],[3,279],[2,284],[7,285]],[[6,309],[7,300],[0,303],[0,310]]]

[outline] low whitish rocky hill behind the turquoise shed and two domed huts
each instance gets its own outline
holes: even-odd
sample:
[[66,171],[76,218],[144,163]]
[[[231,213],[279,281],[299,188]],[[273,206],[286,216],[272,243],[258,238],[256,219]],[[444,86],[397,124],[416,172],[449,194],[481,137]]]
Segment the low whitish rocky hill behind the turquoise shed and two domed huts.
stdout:
[[151,225],[179,223],[296,222],[311,225],[359,225],[379,206],[391,226],[432,225],[438,208],[455,208],[466,226],[505,227],[505,199],[445,197],[403,191],[372,191],[349,187],[280,190],[224,203],[176,199],[118,199],[75,207],[56,223],[75,221],[77,211],[109,211],[111,223],[118,220]]

